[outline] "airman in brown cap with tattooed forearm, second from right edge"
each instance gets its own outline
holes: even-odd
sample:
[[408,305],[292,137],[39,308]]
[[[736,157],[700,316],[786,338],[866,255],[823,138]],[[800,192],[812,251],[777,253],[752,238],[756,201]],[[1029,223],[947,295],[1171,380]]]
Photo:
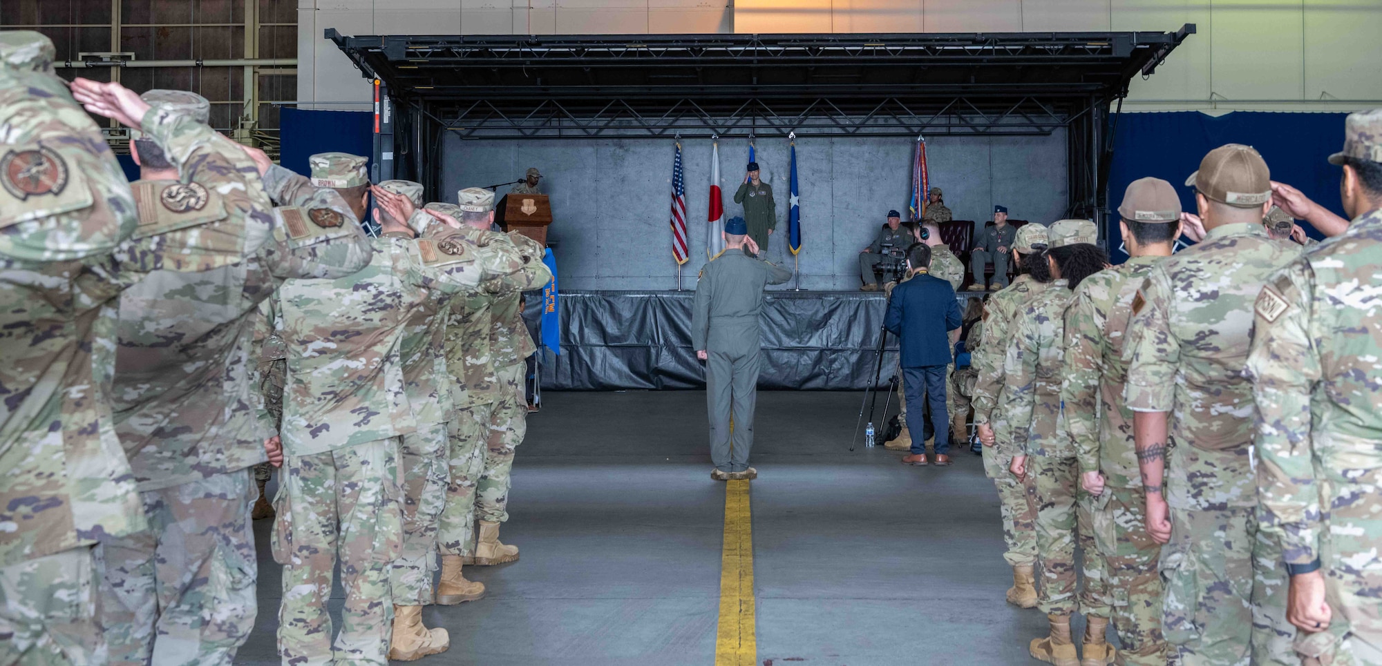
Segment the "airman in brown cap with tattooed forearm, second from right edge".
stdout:
[[1162,631],[1186,666],[1299,663],[1280,542],[1258,533],[1252,386],[1242,374],[1252,303],[1299,249],[1262,227],[1271,182],[1252,148],[1211,151],[1187,184],[1205,238],[1151,267],[1124,347],[1147,532],[1166,544]]

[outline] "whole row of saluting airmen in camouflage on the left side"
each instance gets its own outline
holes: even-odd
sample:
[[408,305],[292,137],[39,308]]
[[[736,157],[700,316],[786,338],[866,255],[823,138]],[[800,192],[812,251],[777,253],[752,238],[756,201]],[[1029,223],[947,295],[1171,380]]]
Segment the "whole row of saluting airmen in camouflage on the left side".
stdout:
[[[422,607],[518,558],[499,525],[542,246],[491,231],[489,191],[422,209],[344,153],[305,178],[199,95],[69,86],[53,58],[0,33],[0,663],[229,665],[265,459],[283,663],[446,649]],[[87,112],[142,133],[140,181]]]

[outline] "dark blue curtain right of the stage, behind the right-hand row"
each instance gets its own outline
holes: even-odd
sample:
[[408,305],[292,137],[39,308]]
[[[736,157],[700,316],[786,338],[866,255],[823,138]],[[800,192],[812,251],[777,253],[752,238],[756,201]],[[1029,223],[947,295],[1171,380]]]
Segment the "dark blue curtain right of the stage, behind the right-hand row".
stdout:
[[[1223,144],[1247,144],[1258,149],[1271,169],[1271,180],[1294,185],[1329,210],[1339,206],[1339,167],[1325,162],[1343,145],[1346,113],[1274,113],[1236,111],[1219,117],[1198,111],[1124,113],[1118,119],[1114,160],[1108,171],[1108,249],[1114,263],[1128,256],[1119,251],[1118,202],[1128,184],[1154,175],[1180,192],[1180,206],[1194,213],[1194,188],[1186,177],[1200,167],[1206,152]],[[1318,232],[1303,225],[1314,238]]]

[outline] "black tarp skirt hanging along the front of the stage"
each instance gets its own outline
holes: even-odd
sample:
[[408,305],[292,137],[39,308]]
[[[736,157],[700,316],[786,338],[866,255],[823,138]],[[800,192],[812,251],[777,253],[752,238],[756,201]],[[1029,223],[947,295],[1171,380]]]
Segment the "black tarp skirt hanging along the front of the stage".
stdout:
[[[562,292],[561,355],[539,351],[546,390],[705,388],[691,348],[694,292]],[[535,298],[528,315],[536,315]],[[875,293],[768,292],[759,388],[864,390],[886,301]],[[894,373],[889,336],[882,386]]]

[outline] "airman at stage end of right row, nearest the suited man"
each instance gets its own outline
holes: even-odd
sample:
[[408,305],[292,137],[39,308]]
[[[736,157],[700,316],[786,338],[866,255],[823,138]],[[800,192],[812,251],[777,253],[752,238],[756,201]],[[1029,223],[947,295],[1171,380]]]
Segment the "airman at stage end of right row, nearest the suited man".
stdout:
[[[1028,224],[1017,229],[1013,250],[1021,258],[1021,272],[1002,292],[988,297],[988,316],[984,319],[984,337],[978,352],[970,356],[977,379],[970,403],[974,408],[974,427],[984,445],[984,474],[994,479],[1003,514],[1003,540],[1007,551],[1003,560],[1013,568],[1013,586],[1007,590],[1007,602],[1021,608],[1036,607],[1034,565],[1036,562],[1036,507],[1032,506],[1031,486],[1014,478],[1007,466],[1010,453],[995,448],[1013,437],[1006,405],[1009,395],[1003,387],[1003,354],[1007,351],[1013,319],[1017,310],[1043,292],[1050,282],[1050,269],[1041,261],[1039,251],[1046,249],[1046,228]],[[1003,405],[1005,409],[998,409]]]

